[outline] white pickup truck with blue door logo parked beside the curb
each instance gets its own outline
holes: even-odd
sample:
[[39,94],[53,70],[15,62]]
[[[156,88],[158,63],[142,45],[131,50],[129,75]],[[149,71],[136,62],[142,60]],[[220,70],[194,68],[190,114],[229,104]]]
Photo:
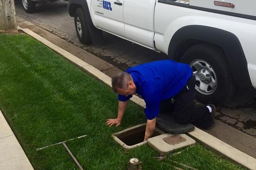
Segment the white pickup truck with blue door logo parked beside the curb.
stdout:
[[68,10],[84,44],[103,30],[188,63],[201,102],[256,88],[256,0],[69,0]]

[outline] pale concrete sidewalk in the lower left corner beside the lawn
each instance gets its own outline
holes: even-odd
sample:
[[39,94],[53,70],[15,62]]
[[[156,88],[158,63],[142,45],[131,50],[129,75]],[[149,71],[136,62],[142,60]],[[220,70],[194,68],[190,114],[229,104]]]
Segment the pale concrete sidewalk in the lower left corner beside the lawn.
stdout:
[[34,170],[0,111],[0,170]]

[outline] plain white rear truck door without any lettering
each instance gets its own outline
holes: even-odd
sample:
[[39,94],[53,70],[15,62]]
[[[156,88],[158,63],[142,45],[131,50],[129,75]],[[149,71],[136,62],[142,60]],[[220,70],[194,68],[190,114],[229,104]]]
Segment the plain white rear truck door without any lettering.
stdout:
[[156,0],[125,0],[125,37],[154,48],[154,7]]

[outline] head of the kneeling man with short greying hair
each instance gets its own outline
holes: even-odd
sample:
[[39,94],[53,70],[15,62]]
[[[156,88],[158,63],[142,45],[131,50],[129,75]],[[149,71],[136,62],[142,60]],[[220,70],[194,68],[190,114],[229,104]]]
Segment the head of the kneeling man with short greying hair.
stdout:
[[112,77],[112,89],[115,93],[129,96],[136,91],[136,85],[130,74],[121,72]]

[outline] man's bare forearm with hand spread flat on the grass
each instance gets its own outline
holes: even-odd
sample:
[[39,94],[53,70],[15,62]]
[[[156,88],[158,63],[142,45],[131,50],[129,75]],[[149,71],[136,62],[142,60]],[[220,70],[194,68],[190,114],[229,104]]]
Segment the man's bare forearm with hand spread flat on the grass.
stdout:
[[107,119],[107,125],[109,127],[111,127],[112,125],[116,125],[116,127],[118,127],[119,125],[122,124],[122,119],[124,117],[125,114],[125,109],[127,108],[128,105],[128,101],[122,102],[119,101],[118,102],[118,113],[117,113],[117,118],[116,119]]

